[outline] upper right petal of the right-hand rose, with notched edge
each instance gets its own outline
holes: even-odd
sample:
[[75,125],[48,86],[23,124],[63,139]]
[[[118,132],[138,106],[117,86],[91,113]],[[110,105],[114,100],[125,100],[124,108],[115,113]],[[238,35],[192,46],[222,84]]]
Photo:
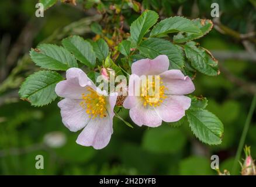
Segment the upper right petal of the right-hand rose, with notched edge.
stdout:
[[184,76],[180,70],[168,70],[160,74],[164,86],[168,89],[166,94],[185,95],[195,91],[195,86],[191,78]]

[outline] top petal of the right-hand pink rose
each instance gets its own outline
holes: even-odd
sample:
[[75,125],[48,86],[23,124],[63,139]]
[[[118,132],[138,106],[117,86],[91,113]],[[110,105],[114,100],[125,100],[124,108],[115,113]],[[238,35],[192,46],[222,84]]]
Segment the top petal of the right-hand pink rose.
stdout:
[[166,55],[160,55],[150,60],[141,59],[132,64],[132,74],[136,75],[159,75],[169,68],[169,59]]

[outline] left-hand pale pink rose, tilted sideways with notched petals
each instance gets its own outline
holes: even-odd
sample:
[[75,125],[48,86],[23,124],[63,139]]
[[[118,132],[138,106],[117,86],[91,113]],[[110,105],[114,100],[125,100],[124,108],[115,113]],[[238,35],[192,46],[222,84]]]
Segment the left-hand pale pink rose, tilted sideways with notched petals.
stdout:
[[107,146],[113,133],[117,93],[107,96],[79,68],[68,69],[66,77],[55,89],[57,95],[64,98],[58,102],[64,125],[70,131],[84,128],[77,138],[82,146],[95,149]]

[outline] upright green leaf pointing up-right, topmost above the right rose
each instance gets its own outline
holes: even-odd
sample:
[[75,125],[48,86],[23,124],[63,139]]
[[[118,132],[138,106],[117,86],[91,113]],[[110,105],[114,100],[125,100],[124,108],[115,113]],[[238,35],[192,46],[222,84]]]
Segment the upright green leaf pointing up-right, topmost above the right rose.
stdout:
[[157,22],[158,14],[154,11],[144,11],[138,19],[136,19],[130,28],[131,38],[139,44],[143,36]]

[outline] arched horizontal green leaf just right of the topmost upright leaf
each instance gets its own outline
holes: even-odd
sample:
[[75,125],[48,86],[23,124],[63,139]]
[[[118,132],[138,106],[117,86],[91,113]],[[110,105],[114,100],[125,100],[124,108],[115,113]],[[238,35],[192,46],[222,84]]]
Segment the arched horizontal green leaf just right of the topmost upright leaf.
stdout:
[[150,37],[162,37],[168,33],[185,32],[193,34],[202,34],[201,30],[189,19],[180,16],[174,16],[161,20],[153,27]]

